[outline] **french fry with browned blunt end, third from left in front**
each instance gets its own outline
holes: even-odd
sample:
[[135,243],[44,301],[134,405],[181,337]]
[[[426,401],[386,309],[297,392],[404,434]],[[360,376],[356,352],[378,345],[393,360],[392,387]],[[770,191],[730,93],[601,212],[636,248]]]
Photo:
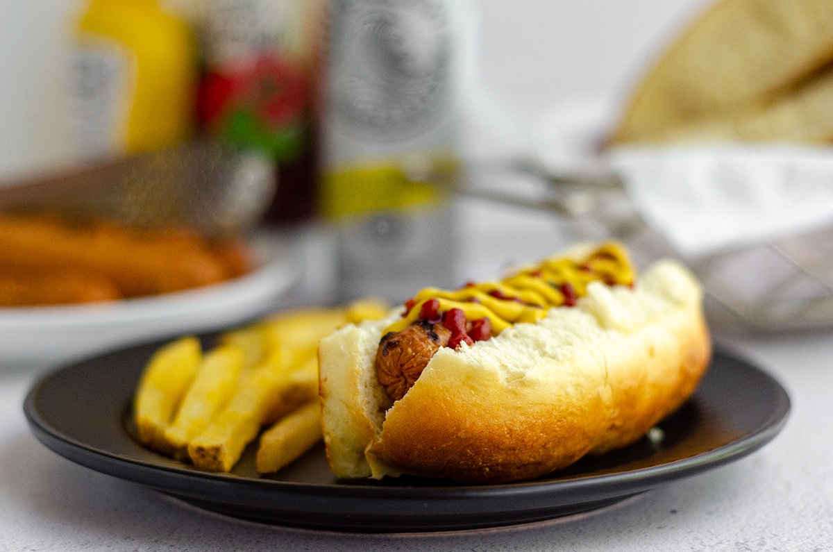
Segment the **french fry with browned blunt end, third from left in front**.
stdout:
[[231,470],[274,408],[282,379],[268,364],[245,374],[231,402],[188,444],[193,464],[208,471]]

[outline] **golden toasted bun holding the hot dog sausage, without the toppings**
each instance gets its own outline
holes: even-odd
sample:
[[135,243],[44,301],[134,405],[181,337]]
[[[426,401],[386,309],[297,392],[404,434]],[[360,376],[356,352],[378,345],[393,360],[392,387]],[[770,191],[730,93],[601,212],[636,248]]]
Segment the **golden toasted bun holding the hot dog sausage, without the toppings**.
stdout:
[[639,439],[691,395],[711,358],[699,285],[661,261],[633,288],[591,284],[536,324],[440,349],[389,406],[373,359],[398,315],[319,348],[324,440],[340,478],[535,478]]

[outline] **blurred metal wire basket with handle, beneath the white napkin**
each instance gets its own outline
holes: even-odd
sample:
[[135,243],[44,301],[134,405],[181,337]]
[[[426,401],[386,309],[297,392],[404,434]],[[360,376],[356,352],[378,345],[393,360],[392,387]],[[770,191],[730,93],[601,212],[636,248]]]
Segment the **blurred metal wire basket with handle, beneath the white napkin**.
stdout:
[[[642,220],[616,173],[555,174],[521,161],[476,166],[460,173],[408,174],[420,182],[445,186],[451,193],[568,218],[576,223],[580,236],[620,239],[639,264],[660,257],[679,258],[701,280],[710,321],[722,331],[833,326],[833,225],[684,258]],[[512,178],[512,185],[506,186],[506,177],[518,175],[528,185],[517,186]]]

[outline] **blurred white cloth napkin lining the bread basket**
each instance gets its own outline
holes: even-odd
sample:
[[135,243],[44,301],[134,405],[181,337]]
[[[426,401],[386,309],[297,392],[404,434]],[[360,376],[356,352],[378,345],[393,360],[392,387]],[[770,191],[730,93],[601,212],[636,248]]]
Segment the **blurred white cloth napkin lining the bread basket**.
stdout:
[[714,143],[598,152],[610,103],[564,104],[531,136],[553,171],[620,173],[646,224],[696,257],[833,223],[833,148]]

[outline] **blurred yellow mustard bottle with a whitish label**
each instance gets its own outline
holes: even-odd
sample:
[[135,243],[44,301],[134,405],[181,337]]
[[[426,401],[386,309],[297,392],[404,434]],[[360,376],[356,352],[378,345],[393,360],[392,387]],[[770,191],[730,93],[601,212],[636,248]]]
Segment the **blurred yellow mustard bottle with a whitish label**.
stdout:
[[84,156],[138,153],[192,138],[197,45],[187,23],[157,0],[88,0],[74,34]]

